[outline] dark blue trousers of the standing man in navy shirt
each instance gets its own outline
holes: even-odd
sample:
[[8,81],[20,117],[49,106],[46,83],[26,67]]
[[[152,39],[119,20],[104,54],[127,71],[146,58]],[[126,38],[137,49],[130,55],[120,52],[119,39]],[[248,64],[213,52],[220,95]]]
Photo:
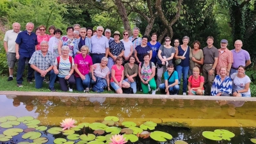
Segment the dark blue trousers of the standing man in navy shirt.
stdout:
[[[20,58],[19,58],[19,62],[18,62],[18,70],[17,70],[17,77],[16,77],[16,80],[17,80],[17,84],[22,84],[22,75],[23,75],[23,72],[25,70],[25,65],[26,65],[26,60],[27,58],[22,56],[22,54],[20,54]],[[28,58],[28,61],[30,60],[30,58]],[[27,79],[28,80],[32,80],[32,77],[33,77],[33,68],[30,67],[30,64],[28,63],[28,77]]]

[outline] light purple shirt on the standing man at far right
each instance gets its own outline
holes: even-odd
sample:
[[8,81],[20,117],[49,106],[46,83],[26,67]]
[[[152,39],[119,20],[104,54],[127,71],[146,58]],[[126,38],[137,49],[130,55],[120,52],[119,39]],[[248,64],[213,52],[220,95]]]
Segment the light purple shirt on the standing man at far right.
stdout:
[[249,52],[241,49],[241,51],[236,52],[235,49],[231,50],[234,58],[234,63],[232,63],[233,68],[238,68],[239,65],[245,66],[247,60],[250,60]]

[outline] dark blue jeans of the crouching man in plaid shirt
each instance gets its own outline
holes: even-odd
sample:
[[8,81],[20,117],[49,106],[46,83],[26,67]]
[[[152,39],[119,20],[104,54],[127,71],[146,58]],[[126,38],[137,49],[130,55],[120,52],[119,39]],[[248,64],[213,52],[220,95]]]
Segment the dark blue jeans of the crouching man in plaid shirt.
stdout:
[[[49,88],[54,88],[54,82],[57,76],[56,74],[54,74],[54,70],[50,70],[49,72],[47,72],[46,75],[50,76]],[[35,80],[36,88],[42,88],[44,77],[41,77],[41,74],[39,72],[35,72]]]

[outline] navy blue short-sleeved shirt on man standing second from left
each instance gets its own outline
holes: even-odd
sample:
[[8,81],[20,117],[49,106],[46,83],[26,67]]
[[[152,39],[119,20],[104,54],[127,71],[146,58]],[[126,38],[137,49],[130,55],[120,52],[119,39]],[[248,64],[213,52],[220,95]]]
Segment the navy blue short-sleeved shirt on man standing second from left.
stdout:
[[19,54],[26,58],[31,58],[35,52],[35,46],[38,44],[36,34],[31,32],[28,35],[28,31],[20,32],[15,42],[19,44]]

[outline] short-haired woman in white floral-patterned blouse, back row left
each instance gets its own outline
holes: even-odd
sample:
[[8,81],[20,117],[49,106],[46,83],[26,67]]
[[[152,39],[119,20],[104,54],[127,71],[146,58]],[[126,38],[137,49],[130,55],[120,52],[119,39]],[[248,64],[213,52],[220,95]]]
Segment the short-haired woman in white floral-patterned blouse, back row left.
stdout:
[[77,51],[77,40],[73,37],[73,27],[68,27],[67,28],[67,35],[61,37],[61,42],[59,42],[59,49],[63,45],[68,45],[69,47],[69,56],[72,56],[74,58],[76,51]]

